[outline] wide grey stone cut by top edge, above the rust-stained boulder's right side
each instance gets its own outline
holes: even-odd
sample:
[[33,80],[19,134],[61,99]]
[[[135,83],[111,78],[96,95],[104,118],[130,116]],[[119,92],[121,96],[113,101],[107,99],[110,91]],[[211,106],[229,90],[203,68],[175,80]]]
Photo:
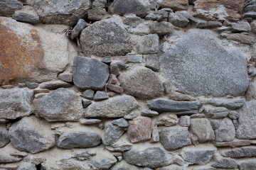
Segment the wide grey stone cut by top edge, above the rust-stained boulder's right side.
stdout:
[[80,18],[87,16],[87,10],[92,6],[92,2],[89,0],[31,0],[30,4],[35,8],[43,23],[67,26],[72,26]]

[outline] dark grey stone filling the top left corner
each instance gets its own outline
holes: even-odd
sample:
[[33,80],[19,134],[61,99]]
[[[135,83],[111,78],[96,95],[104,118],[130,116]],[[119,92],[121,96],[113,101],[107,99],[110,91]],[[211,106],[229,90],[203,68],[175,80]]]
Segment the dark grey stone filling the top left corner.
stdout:
[[22,8],[22,3],[18,0],[1,0],[0,1],[0,16],[10,17],[16,10]]

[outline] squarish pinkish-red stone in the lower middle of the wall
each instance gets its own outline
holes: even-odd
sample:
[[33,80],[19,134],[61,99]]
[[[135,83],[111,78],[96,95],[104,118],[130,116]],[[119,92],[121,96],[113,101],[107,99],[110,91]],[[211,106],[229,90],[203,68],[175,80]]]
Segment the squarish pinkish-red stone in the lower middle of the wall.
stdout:
[[151,118],[136,118],[129,122],[127,130],[128,140],[132,143],[150,140],[152,128]]

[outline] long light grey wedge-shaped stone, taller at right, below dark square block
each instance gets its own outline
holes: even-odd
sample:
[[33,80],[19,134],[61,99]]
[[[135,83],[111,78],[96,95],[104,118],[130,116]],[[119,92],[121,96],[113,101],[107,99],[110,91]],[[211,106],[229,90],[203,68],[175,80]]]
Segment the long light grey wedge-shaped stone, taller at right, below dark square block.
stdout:
[[132,96],[117,96],[106,101],[92,103],[86,108],[85,118],[121,118],[136,109],[138,102]]

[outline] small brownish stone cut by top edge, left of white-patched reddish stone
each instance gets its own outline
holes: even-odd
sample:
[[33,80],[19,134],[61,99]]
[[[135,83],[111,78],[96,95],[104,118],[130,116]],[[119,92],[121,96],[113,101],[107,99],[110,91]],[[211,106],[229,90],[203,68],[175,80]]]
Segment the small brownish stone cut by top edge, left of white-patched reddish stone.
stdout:
[[172,8],[174,11],[188,10],[188,0],[164,0],[161,8]]

